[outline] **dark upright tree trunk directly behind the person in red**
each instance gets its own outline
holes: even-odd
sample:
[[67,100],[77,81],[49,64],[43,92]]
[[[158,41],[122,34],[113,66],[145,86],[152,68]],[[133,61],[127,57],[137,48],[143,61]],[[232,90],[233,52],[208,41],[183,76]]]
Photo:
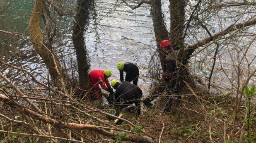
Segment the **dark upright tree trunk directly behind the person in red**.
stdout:
[[89,57],[85,46],[84,32],[89,24],[89,14],[94,0],[77,0],[77,13],[73,26],[72,40],[76,50],[80,87],[89,90]]

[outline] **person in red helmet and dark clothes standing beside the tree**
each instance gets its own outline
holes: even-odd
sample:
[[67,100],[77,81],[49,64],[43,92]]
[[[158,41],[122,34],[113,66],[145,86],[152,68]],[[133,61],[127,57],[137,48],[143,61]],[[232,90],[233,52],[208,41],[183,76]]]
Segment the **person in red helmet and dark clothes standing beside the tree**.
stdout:
[[[171,48],[171,42],[169,40],[164,40],[160,43],[160,52],[165,56],[161,59],[164,62],[165,72],[161,76],[161,83],[152,93],[152,98],[150,100],[144,100],[144,104],[150,106],[150,101],[157,98],[156,93],[161,93],[166,88],[167,95],[175,95],[178,104],[180,104],[181,96],[180,93],[180,83],[182,81],[182,72],[180,64],[180,52],[179,50],[173,50]],[[170,112],[173,97],[168,99],[167,104],[164,107],[163,112]]]

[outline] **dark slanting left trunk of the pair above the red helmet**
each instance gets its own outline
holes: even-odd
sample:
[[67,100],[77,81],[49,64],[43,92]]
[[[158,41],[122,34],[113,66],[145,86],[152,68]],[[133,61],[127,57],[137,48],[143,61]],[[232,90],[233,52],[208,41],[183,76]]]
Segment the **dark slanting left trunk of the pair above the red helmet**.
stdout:
[[[150,11],[152,14],[155,37],[156,37],[156,42],[157,42],[157,49],[159,49],[161,41],[166,40],[166,39],[169,40],[168,31],[164,24],[161,0],[152,0]],[[163,61],[164,54],[158,50],[158,55],[160,57],[162,69],[165,72],[166,69],[165,69],[164,61]]]

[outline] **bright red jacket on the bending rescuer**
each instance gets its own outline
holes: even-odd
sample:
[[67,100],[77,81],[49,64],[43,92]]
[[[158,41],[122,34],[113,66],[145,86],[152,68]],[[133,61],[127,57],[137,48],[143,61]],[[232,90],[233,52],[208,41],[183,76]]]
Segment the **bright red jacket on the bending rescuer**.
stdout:
[[90,84],[91,86],[94,86],[94,89],[99,88],[99,84],[103,89],[111,88],[108,79],[105,79],[103,70],[93,70],[89,73],[89,77]]

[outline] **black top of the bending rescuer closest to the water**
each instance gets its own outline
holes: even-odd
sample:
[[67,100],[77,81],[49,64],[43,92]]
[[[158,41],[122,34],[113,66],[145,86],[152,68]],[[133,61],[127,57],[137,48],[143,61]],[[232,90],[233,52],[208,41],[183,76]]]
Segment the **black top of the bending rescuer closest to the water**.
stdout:
[[[123,70],[120,71],[120,81],[121,82],[123,82],[123,72],[126,72],[126,74],[127,73],[133,73],[130,76],[136,77],[139,74],[139,68],[137,67],[136,64],[133,64],[131,62],[124,63]],[[134,77],[131,77],[131,78],[134,78]]]

